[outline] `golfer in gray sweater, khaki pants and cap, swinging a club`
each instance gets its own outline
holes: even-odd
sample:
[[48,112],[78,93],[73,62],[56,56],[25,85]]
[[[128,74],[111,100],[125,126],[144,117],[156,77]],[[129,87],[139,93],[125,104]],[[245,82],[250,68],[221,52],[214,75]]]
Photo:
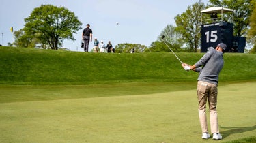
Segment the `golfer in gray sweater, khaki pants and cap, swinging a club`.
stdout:
[[[208,133],[208,124],[205,113],[206,102],[208,100],[210,111],[210,129],[213,133],[213,140],[221,140],[222,136],[218,129],[218,116],[217,116],[217,94],[218,94],[218,74],[223,68],[223,53],[227,50],[227,45],[224,43],[218,44],[216,48],[208,48],[208,52],[195,63],[195,65],[188,65],[182,63],[182,67],[186,71],[193,70],[199,72],[197,79],[197,99],[198,99],[198,112],[199,121],[201,124],[202,138],[210,138]],[[203,66],[203,67],[202,67]]]

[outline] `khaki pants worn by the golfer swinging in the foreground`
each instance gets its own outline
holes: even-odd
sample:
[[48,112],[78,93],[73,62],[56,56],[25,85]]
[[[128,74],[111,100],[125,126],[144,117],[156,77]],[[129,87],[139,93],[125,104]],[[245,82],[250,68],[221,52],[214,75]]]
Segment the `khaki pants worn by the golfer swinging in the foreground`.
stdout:
[[219,133],[218,131],[218,116],[217,116],[217,94],[218,86],[208,82],[197,82],[197,99],[198,99],[198,113],[201,123],[202,133],[208,133],[207,118],[205,113],[206,102],[208,100],[210,111],[210,126],[212,133]]

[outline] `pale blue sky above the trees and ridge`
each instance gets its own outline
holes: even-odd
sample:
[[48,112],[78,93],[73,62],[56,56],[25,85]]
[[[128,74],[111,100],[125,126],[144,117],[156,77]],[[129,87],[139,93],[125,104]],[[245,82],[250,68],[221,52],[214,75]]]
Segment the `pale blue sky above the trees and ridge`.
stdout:
[[[0,1],[0,44],[14,42],[14,31],[22,29],[24,18],[29,17],[35,7],[51,4],[68,8],[83,23],[91,25],[93,39],[113,46],[121,43],[150,46],[162,29],[175,25],[175,16],[186,11],[189,5],[199,0],[1,0]],[[201,0],[208,3],[208,0]],[[119,25],[117,25],[117,22]],[[76,41],[64,40],[63,47],[72,51],[81,48],[82,31],[74,33]],[[89,50],[94,44],[89,44]]]

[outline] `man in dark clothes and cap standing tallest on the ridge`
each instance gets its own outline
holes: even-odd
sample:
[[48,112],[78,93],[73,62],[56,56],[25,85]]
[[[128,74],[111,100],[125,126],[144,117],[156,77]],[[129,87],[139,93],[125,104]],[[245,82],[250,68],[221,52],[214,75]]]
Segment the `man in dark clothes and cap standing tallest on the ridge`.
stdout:
[[84,41],[83,48],[84,48],[85,52],[88,52],[90,39],[92,41],[92,30],[90,29],[89,24],[87,24],[87,27],[85,29],[83,29],[82,39]]

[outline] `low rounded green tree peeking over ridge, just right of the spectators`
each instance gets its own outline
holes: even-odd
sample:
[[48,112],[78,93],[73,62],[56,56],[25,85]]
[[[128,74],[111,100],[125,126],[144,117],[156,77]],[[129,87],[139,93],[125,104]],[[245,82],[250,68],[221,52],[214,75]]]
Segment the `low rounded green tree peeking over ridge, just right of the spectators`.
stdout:
[[130,53],[130,51],[134,48],[134,52],[145,52],[147,46],[141,44],[117,44],[115,46],[115,52],[117,53]]

